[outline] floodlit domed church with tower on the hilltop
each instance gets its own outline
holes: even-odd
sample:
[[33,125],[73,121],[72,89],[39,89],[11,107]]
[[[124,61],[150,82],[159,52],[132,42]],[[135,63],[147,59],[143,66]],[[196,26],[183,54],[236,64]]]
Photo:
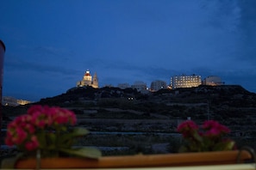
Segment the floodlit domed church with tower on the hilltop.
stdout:
[[84,73],[83,80],[77,82],[77,87],[91,86],[92,88],[98,88],[97,74],[92,77],[89,70]]

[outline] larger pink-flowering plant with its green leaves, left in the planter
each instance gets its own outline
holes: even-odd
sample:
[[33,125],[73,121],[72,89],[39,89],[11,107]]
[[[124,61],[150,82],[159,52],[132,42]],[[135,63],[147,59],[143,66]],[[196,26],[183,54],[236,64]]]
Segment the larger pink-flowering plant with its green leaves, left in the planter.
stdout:
[[5,143],[21,151],[21,155],[11,160],[15,162],[37,158],[36,163],[39,164],[45,158],[99,158],[101,152],[98,149],[73,146],[76,137],[89,133],[84,128],[74,127],[76,123],[76,115],[70,110],[58,106],[31,106],[26,114],[8,124]]

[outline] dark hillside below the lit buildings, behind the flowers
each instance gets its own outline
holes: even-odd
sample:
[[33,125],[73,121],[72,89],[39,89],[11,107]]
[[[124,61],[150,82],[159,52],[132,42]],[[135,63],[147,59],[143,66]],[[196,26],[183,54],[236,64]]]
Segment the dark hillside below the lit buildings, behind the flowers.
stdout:
[[[89,131],[139,131],[147,135],[135,140],[130,135],[112,135],[91,138],[98,146],[128,146],[145,148],[142,142],[155,139],[159,132],[176,132],[178,123],[191,118],[197,123],[215,119],[231,129],[230,135],[238,146],[249,145],[254,149],[256,139],[256,94],[241,86],[199,86],[197,88],[161,89],[141,94],[132,88],[71,88],[65,94],[41,99],[39,102],[9,107],[3,106],[3,128],[31,105],[62,106],[77,114],[78,125]],[[149,137],[149,134],[152,134]],[[136,137],[142,137],[137,135]],[[121,140],[121,141],[120,141]],[[134,140],[136,142],[134,142]],[[162,142],[159,142],[163,140]],[[166,143],[168,137],[159,136],[158,142]],[[109,141],[109,143],[107,142]],[[118,145],[119,141],[119,145]],[[125,144],[124,142],[127,141]],[[141,145],[139,146],[138,143]],[[125,145],[124,145],[125,144]],[[137,146],[138,145],[138,146]],[[151,146],[153,146],[151,144]],[[142,147],[142,148],[143,148]]]

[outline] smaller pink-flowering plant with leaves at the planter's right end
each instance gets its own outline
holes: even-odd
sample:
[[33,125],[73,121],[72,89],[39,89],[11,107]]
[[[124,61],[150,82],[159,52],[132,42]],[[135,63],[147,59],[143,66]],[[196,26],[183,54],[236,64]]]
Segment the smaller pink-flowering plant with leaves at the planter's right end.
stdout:
[[187,120],[178,125],[178,132],[184,137],[184,145],[180,148],[180,152],[234,149],[234,141],[225,138],[230,130],[215,120],[205,121],[200,126],[192,120]]

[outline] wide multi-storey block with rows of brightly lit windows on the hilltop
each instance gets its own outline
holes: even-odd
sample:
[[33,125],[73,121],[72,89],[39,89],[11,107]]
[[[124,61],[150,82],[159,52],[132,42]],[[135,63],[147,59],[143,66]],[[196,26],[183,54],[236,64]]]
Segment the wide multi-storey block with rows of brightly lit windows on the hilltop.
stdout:
[[172,76],[171,87],[174,88],[192,88],[202,84],[201,76]]

